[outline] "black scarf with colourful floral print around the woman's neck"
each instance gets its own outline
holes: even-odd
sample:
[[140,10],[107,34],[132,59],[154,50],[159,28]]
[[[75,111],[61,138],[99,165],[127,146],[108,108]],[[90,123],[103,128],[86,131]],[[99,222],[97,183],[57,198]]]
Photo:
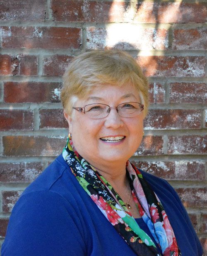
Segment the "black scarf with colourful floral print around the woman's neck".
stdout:
[[[63,149],[63,158],[79,184],[135,254],[160,256],[154,242],[139,227],[120,196],[107,180],[77,153],[69,138]],[[140,171],[129,161],[126,163],[126,170],[133,199],[162,254],[181,256],[173,229],[159,198]]]

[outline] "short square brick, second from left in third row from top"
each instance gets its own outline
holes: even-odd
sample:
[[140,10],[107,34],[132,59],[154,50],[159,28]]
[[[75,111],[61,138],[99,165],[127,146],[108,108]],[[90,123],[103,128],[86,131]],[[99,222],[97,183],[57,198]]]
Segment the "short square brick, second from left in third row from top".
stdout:
[[19,75],[20,76],[37,76],[38,59],[33,55],[18,55],[19,57]]

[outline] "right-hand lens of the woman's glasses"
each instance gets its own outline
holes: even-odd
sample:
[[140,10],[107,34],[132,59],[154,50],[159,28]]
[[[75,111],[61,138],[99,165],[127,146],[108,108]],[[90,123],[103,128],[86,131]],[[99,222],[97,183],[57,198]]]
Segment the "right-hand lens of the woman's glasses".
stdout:
[[121,117],[135,117],[141,112],[141,104],[137,102],[125,102],[118,105],[118,112]]

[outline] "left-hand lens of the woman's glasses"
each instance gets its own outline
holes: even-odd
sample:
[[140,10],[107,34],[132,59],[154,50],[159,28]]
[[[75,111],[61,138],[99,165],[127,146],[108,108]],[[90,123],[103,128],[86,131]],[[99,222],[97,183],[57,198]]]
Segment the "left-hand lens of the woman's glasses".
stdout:
[[89,104],[85,106],[85,114],[91,118],[99,119],[108,115],[109,107],[105,104]]

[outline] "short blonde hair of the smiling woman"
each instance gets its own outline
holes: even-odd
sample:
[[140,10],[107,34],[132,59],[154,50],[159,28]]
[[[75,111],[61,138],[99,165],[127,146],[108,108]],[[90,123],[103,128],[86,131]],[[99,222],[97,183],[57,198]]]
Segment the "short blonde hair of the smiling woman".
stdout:
[[134,85],[144,104],[144,117],[148,109],[148,82],[135,59],[125,51],[93,50],[75,57],[63,76],[60,94],[65,111],[71,115],[78,98],[87,97],[100,85]]

